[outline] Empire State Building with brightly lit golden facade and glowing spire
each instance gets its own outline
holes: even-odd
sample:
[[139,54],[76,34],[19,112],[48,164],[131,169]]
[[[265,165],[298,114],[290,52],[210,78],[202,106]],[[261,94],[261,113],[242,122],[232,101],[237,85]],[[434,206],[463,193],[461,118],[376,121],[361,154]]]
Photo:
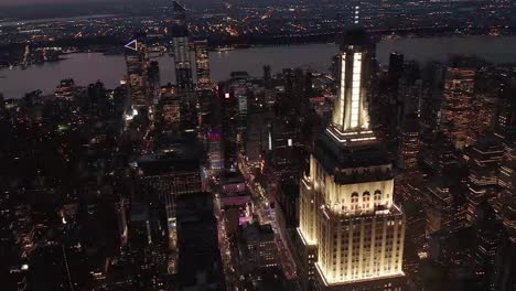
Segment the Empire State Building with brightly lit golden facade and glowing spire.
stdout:
[[344,34],[332,122],[301,182],[303,289],[402,290],[405,215],[393,202],[388,154],[369,126],[373,54],[365,31]]

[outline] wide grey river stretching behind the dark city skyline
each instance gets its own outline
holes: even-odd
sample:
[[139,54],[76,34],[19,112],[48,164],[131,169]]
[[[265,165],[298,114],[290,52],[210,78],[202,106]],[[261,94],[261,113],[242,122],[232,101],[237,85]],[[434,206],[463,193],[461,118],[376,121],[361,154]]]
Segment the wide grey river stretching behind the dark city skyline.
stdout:
[[[516,63],[516,36],[452,36],[432,39],[387,40],[377,45],[377,58],[388,63],[388,55],[397,51],[407,60],[426,62],[445,61],[450,55],[479,55],[494,63]],[[327,72],[331,58],[338,51],[334,44],[300,44],[286,46],[259,46],[230,52],[209,53],[212,78],[223,80],[234,71],[246,71],[251,76],[261,76],[262,67],[271,65],[273,72],[287,67],[312,68]],[[157,58],[160,64],[161,83],[173,83],[173,58],[165,55]],[[20,98],[26,91],[41,89],[52,94],[63,78],[74,78],[78,85],[101,80],[108,88],[116,87],[126,74],[121,55],[79,53],[66,55],[55,63],[32,65],[26,69],[0,69],[0,93],[6,98]]]

